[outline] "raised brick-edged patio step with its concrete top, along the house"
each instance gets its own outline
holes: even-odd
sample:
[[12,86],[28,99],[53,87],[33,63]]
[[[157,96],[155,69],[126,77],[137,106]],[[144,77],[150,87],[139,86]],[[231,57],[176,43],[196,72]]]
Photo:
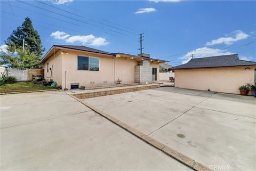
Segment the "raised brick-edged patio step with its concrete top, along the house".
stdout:
[[135,91],[141,91],[141,90],[144,90],[144,89],[152,89],[152,88],[159,88],[159,87],[160,87],[159,84],[114,87],[114,88],[94,89],[94,90],[89,90],[90,92],[75,93],[75,94],[72,94],[72,95],[74,95],[78,99],[87,99],[87,98],[92,98],[92,97],[135,92]]

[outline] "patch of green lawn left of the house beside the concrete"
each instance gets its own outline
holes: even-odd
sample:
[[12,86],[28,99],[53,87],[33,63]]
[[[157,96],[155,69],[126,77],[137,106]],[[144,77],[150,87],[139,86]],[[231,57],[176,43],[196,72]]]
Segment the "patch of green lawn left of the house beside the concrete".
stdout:
[[51,87],[28,83],[14,83],[14,84],[4,84],[0,87],[0,93],[11,93],[11,92],[27,92],[27,91],[37,91],[43,89],[57,89],[59,87]]

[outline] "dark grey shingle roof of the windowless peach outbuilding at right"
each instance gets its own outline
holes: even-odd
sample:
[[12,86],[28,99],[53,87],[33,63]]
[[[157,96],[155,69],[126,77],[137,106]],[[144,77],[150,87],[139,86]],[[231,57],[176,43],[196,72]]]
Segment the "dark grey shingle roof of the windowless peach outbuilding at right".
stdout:
[[171,69],[189,69],[189,68],[214,68],[214,67],[236,67],[236,66],[253,66],[256,62],[239,60],[238,54],[211,56],[205,58],[194,58],[188,63]]

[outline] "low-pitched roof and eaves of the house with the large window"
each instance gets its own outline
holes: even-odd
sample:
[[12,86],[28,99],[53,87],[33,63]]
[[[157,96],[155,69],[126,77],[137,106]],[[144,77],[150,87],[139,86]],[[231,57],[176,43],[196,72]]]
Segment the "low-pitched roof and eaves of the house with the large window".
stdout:
[[74,45],[53,45],[50,50],[44,55],[40,63],[44,63],[47,59],[49,59],[54,53],[55,49],[57,50],[70,50],[70,51],[84,51],[84,52],[89,52],[89,53],[98,53],[103,56],[109,56],[109,57],[125,57],[129,59],[137,59],[137,60],[143,60],[143,59],[149,59],[150,61],[153,62],[158,62],[158,63],[164,63],[167,61],[164,60],[159,60],[155,58],[147,58],[145,56],[136,56],[136,55],[131,55],[131,54],[125,54],[125,53],[110,53],[110,52],[105,52],[105,51],[100,51],[95,48],[91,47],[86,47],[86,46],[74,46]]

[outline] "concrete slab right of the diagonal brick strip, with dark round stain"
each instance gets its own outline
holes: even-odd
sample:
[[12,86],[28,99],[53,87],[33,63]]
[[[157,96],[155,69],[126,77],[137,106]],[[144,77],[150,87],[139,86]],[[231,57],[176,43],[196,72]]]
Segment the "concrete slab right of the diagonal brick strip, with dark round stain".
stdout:
[[253,96],[162,87],[84,101],[213,170],[256,170]]

